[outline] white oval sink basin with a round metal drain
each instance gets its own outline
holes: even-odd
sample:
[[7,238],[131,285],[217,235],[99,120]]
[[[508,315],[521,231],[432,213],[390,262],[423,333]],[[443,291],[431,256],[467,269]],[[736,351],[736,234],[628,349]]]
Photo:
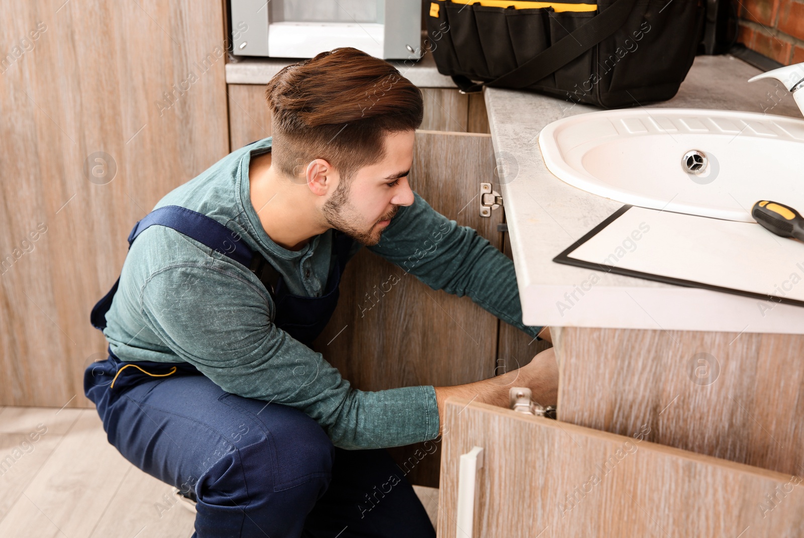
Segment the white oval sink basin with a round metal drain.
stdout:
[[804,211],[804,120],[708,109],[616,109],[553,121],[548,170],[595,195],[754,222],[761,199]]

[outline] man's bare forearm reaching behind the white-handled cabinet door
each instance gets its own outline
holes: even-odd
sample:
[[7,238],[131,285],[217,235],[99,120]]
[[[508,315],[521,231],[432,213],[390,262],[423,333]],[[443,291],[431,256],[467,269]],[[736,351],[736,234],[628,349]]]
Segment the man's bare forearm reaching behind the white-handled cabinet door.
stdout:
[[533,400],[544,406],[556,405],[558,400],[558,363],[551,347],[536,355],[522,368],[488,380],[475,381],[454,387],[436,387],[440,432],[444,429],[444,405],[449,396],[458,396],[484,404],[508,407],[508,390],[511,387],[530,388]]

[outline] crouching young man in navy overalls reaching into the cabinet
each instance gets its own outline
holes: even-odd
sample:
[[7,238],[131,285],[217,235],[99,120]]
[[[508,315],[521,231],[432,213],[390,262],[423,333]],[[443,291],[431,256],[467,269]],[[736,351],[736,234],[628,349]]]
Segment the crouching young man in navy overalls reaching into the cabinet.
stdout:
[[[384,448],[438,437],[448,396],[507,405],[515,382],[555,403],[555,357],[457,387],[351,388],[308,345],[361,246],[542,328],[521,322],[511,261],[411,191],[422,99],[395,68],[335,49],[283,69],[266,97],[273,138],[132,230],[92,312],[109,359],[87,368],[86,395],[125,458],[197,499],[193,536],[435,536]],[[408,269],[434,233],[438,248]]]

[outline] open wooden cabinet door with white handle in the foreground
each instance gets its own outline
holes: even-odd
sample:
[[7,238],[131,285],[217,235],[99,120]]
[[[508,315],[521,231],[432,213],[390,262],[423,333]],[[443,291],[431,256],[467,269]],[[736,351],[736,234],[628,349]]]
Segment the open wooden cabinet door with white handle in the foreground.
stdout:
[[[483,448],[472,536],[801,536],[802,474],[450,399],[438,536],[456,535],[461,454]],[[636,435],[637,437],[634,437]]]

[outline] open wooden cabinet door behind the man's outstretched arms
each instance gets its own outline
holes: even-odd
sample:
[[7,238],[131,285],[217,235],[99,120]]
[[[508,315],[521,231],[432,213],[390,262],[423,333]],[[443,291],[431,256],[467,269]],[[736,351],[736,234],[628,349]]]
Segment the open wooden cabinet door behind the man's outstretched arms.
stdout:
[[[480,181],[490,178],[493,168],[490,135],[417,131],[409,182],[437,212],[500,248],[502,215],[479,216],[477,197]],[[387,289],[383,283],[392,275],[398,282],[387,294],[380,292],[376,304],[369,302],[367,294]],[[494,376],[497,322],[469,297],[432,290],[361,248],[349,262],[338,308],[314,349],[362,390],[464,384]],[[438,454],[411,461],[416,448],[421,446],[392,454],[400,463],[410,462],[413,483],[437,487]]]

